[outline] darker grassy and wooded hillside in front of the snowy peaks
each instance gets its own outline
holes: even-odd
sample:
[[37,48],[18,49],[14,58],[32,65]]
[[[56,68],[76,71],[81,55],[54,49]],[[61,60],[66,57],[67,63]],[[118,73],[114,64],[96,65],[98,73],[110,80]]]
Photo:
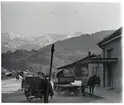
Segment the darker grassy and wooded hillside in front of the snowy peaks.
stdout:
[[[98,41],[103,39],[112,31],[99,32],[95,34],[86,34],[55,42],[55,52],[53,58],[53,70],[59,66],[69,64],[88,55],[88,51],[100,54],[101,49],[96,45]],[[102,35],[103,34],[103,35]],[[6,69],[25,69],[38,72],[49,71],[51,45],[47,45],[39,50],[16,50],[15,52],[7,52],[2,54],[2,67]]]

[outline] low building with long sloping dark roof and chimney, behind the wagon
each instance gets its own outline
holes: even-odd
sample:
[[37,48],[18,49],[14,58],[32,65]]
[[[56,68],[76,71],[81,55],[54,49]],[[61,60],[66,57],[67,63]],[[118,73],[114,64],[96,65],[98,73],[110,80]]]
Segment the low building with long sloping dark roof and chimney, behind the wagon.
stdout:
[[75,79],[81,79],[84,75],[90,76],[89,71],[89,59],[96,57],[95,54],[88,53],[88,56],[78,60],[74,63],[57,68],[58,70],[63,69],[63,76],[74,76]]

